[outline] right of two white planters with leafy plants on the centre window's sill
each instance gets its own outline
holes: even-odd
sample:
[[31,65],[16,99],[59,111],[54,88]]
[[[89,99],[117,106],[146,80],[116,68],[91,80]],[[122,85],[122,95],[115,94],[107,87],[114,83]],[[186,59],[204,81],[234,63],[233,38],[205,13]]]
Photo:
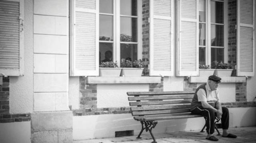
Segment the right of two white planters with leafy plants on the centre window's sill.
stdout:
[[130,61],[128,59],[121,59],[122,71],[120,76],[141,76],[142,75],[142,60]]

